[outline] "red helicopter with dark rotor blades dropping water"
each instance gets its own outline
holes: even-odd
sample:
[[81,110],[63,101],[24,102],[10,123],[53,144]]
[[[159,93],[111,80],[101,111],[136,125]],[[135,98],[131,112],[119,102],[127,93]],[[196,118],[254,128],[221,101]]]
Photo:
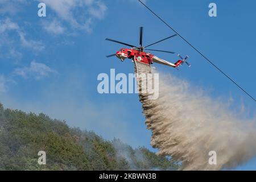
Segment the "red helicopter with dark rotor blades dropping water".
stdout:
[[188,65],[188,67],[191,67],[191,64],[189,64],[187,62],[187,59],[189,58],[188,56],[186,56],[185,59],[183,59],[183,57],[181,57],[180,54],[179,54],[178,56],[180,57],[181,60],[178,60],[176,63],[173,64],[173,63],[170,63],[166,60],[160,59],[159,57],[156,57],[155,55],[152,55],[150,52],[144,52],[144,50],[147,50],[147,51],[175,53],[175,52],[171,52],[171,51],[160,51],[160,50],[156,50],[156,49],[146,49],[146,48],[150,47],[150,46],[153,46],[157,43],[160,43],[164,40],[173,38],[176,35],[177,34],[169,36],[168,38],[159,40],[158,42],[155,42],[155,43],[149,44],[148,46],[143,47],[142,46],[143,27],[141,27],[140,28],[140,41],[139,41],[140,46],[139,47],[107,38],[106,40],[108,40],[108,41],[123,44],[123,45],[129,46],[131,48],[121,48],[121,49],[119,49],[119,51],[117,51],[117,53],[115,53],[113,55],[106,56],[106,57],[117,56],[119,59],[121,59],[121,61],[124,61],[125,59],[128,58],[128,59],[132,59],[133,61],[137,61],[137,62],[143,63],[143,64],[150,65],[150,64],[153,64],[153,63],[159,63],[159,64],[167,65],[169,67],[174,67],[174,68],[177,68],[180,65],[183,65],[183,63],[186,63]]

